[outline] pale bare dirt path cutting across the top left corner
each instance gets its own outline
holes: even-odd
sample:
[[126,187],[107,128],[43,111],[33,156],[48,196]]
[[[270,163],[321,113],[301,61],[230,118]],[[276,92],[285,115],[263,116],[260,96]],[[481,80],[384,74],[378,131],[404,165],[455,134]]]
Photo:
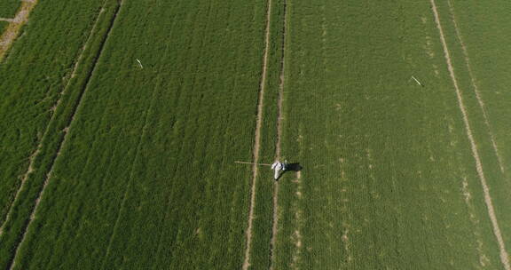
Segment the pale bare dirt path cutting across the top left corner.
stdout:
[[0,61],[4,59],[5,53],[9,51],[14,40],[20,35],[21,28],[27,23],[28,15],[30,15],[36,4],[37,0],[21,2],[20,10],[18,10],[14,19],[5,20],[9,21],[9,25],[5,28],[2,36],[0,36]]

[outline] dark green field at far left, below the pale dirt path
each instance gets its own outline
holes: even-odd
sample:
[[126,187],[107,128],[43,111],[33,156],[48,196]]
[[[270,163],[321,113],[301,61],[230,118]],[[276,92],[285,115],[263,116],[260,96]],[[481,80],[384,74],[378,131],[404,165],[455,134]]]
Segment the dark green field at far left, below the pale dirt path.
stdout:
[[[54,149],[55,142],[61,138],[62,127],[59,129],[54,124],[64,120],[59,113],[58,100],[67,88],[75,60],[88,39],[101,4],[100,1],[90,1],[77,5],[82,9],[59,9],[60,3],[45,2],[32,14],[35,22],[43,20],[45,24],[31,23],[24,28],[25,34],[35,34],[19,38],[0,66],[0,74],[6,78],[0,82],[3,89],[0,105],[3,163],[0,166],[4,179],[0,189],[0,220],[4,230],[0,235],[3,243],[0,262],[3,266],[9,264],[14,255],[48,173],[49,163],[56,155],[48,149]],[[49,26],[66,28],[68,25],[67,20],[48,21],[46,16],[51,14],[50,11],[75,21],[66,35],[55,31],[48,33]],[[55,43],[49,43],[41,35]],[[66,105],[72,104],[67,102]],[[34,171],[28,174],[31,160]]]

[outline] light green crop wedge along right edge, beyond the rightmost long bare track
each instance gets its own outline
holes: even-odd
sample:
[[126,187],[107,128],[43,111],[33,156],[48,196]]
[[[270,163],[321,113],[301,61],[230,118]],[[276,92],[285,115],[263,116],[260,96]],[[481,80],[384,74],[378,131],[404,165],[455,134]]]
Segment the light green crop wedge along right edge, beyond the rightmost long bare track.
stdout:
[[[511,213],[507,210],[511,205],[507,192],[511,189],[511,171],[507,166],[507,161],[511,160],[508,151],[511,130],[506,115],[511,113],[507,101],[511,92],[506,89],[511,76],[502,70],[508,66],[509,60],[501,55],[507,50],[509,34],[506,28],[510,20],[503,10],[509,5],[505,2],[480,4],[476,1],[463,6],[457,6],[454,1],[438,3],[452,65],[466,102],[490,188],[489,195],[507,247],[511,246]],[[461,42],[466,52],[463,52]]]

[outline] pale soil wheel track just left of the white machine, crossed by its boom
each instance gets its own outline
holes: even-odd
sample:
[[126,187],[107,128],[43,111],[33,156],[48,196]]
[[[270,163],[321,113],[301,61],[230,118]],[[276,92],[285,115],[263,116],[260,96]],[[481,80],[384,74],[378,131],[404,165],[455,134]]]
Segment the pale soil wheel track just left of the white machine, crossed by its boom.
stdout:
[[[254,139],[254,163],[259,161],[259,144],[261,141],[261,125],[263,123],[263,102],[264,91],[266,89],[266,70],[268,67],[268,51],[270,47],[270,23],[271,23],[271,0],[268,0],[266,10],[266,29],[264,36],[264,57],[263,57],[263,75],[259,84],[259,98],[257,100],[257,120],[255,122],[255,139]],[[255,205],[255,184],[257,181],[257,165],[252,166],[252,188],[250,191],[250,209],[248,210],[248,227],[247,227],[247,247],[245,250],[245,260],[243,262],[243,270],[247,270],[250,266],[250,248],[252,243],[252,223],[254,220]]]

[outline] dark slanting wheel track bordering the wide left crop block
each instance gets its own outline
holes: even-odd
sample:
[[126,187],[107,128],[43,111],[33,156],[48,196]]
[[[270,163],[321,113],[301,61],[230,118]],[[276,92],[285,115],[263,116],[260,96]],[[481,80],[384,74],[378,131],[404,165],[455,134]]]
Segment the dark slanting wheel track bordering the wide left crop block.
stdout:
[[[104,2],[106,3],[106,1]],[[64,129],[66,134],[64,135],[64,138],[59,142],[59,147],[57,149],[57,154],[55,155],[55,157],[53,158],[53,160],[51,161],[51,165],[50,165],[50,171],[46,174],[46,178],[44,179],[44,184],[43,184],[43,187],[41,188],[39,194],[37,195],[37,198],[35,199],[35,206],[34,206],[34,209],[32,210],[32,213],[30,214],[30,218],[28,220],[28,224],[27,226],[25,226],[25,229],[22,233],[22,236],[21,236],[21,240],[20,242],[18,242],[18,244],[16,245],[15,249],[14,249],[14,256],[12,257],[12,259],[10,260],[9,262],[9,266],[8,268],[9,269],[14,269],[14,267],[16,266],[16,258],[18,257],[18,254],[20,252],[20,247],[22,246],[23,242],[25,242],[25,239],[27,237],[27,232],[28,230],[30,229],[30,226],[32,225],[32,221],[34,220],[35,218],[35,213],[37,212],[37,209],[39,207],[39,203],[41,202],[41,198],[43,197],[44,195],[44,190],[46,189],[46,187],[48,186],[48,183],[51,179],[51,176],[53,174],[53,170],[55,168],[55,163],[57,161],[57,159],[59,158],[59,155],[60,155],[60,151],[62,149],[62,147],[66,144],[67,142],[67,135],[69,134],[68,132],[68,129],[71,127],[72,123],[74,122],[75,120],[75,115],[76,115],[76,112],[78,111],[78,109],[81,107],[82,105],[82,101],[83,101],[83,96],[85,94],[85,92],[89,89],[89,83],[90,83],[90,78],[91,76],[93,75],[94,73],[94,70],[96,69],[97,67],[97,64],[98,64],[98,60],[101,58],[101,55],[102,55],[102,52],[103,52],[103,49],[105,48],[105,44],[108,40],[108,37],[110,36],[111,34],[111,31],[112,31],[112,28],[114,27],[114,22],[115,20],[117,19],[117,15],[119,13],[119,10],[121,9],[121,5],[122,5],[122,0],[119,1],[119,4],[115,7],[115,11],[114,11],[114,16],[110,19],[110,24],[108,26],[108,29],[106,30],[106,35],[105,37],[103,38],[103,40],[101,41],[101,44],[99,46],[99,50],[98,50],[98,53],[97,55],[95,56],[95,58],[93,59],[93,62],[92,62],[92,68],[90,68],[90,71],[88,72],[88,74],[86,75],[86,78],[85,78],[85,84],[83,86],[83,89],[80,91],[80,94],[79,94],[79,97],[78,97],[78,102],[77,102],[77,105],[76,107],[74,107],[73,109],[73,112],[71,114],[71,117],[70,117],[70,120],[68,121],[67,123],[67,127]],[[98,21],[96,21],[98,22]],[[75,67],[77,67],[75,65]]]

